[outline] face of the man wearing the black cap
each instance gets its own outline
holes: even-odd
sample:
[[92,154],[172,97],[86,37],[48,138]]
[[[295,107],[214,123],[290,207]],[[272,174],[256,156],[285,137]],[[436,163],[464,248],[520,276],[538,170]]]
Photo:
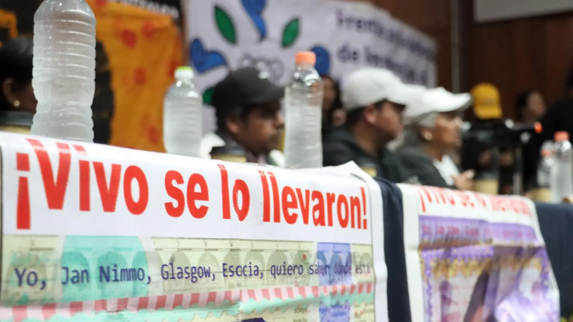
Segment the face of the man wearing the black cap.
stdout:
[[280,101],[255,105],[234,127],[235,134],[245,148],[253,154],[267,154],[281,143],[284,119]]

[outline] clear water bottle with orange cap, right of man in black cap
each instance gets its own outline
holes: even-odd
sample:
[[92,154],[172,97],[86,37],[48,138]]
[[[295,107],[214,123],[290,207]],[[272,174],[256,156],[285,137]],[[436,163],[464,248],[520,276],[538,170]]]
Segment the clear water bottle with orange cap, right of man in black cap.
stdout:
[[285,166],[322,167],[323,83],[315,70],[315,53],[299,52],[295,61],[285,89]]

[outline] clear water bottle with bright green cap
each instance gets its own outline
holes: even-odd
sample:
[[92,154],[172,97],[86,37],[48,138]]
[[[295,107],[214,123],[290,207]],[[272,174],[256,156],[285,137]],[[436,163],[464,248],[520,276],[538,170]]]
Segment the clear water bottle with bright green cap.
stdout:
[[168,154],[199,157],[203,135],[203,97],[193,84],[193,69],[175,70],[175,84],[163,101],[163,145]]

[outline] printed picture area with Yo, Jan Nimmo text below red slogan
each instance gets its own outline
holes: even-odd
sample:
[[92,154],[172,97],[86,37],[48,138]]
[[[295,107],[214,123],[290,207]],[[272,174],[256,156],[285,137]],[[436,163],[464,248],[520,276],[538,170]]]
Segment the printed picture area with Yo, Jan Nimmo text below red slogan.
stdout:
[[[36,307],[46,320],[58,311],[49,303],[67,304],[70,314],[97,314],[98,305],[106,314],[130,305],[166,314],[170,301],[169,314],[186,321],[209,313],[374,321],[370,245],[150,239],[6,236],[4,251],[11,255],[2,263],[2,305]],[[151,251],[144,246],[150,242]],[[198,310],[183,309],[193,307]],[[146,320],[152,313],[122,314]]]

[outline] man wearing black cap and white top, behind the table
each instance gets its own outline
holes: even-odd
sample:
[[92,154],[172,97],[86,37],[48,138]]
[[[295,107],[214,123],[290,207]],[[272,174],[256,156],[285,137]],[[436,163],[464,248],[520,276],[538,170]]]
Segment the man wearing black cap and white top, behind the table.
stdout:
[[237,157],[233,160],[243,156],[247,162],[284,166],[284,156],[276,150],[284,129],[283,96],[284,88],[270,83],[265,72],[251,67],[230,72],[213,91],[217,131],[203,137],[203,158],[225,150]]

